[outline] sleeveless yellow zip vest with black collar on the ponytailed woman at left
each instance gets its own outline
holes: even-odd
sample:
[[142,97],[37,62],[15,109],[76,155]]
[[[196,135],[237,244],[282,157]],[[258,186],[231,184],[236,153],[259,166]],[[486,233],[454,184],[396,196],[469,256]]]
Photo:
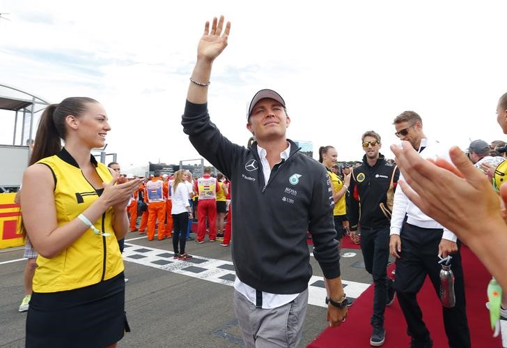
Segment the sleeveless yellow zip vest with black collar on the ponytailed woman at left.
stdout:
[[[98,175],[105,183],[113,179],[109,168],[98,163],[93,156]],[[38,161],[51,169],[54,177],[54,203],[58,225],[63,226],[77,218],[102,194],[95,190],[81,172],[79,165],[64,149],[55,156]],[[102,217],[93,223],[100,232],[87,229],[77,241],[52,259],[38,256],[34,292],[61,292],[93,285],[108,280],[123,271],[123,259],[114,234],[113,209],[109,207]]]

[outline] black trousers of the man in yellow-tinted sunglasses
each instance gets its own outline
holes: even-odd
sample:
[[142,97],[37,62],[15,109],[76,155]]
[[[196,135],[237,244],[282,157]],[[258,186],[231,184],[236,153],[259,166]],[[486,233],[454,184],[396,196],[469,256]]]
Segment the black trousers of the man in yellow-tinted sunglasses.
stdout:
[[384,326],[387,294],[393,288],[386,269],[389,261],[389,226],[380,229],[361,228],[361,251],[364,268],[373,276],[375,284],[370,323],[372,326]]

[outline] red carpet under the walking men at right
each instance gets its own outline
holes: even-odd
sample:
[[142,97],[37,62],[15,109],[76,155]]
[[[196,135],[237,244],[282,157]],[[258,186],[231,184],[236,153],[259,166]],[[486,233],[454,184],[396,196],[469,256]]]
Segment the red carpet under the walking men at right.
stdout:
[[[345,248],[345,247],[344,247]],[[486,287],[490,274],[477,257],[463,246],[461,250],[465,271],[465,292],[467,296],[467,317],[471,333],[471,346],[480,348],[501,347],[500,338],[493,338],[489,313],[485,308]],[[391,266],[392,268],[393,266]],[[390,268],[390,269],[391,269]],[[390,271],[389,271],[390,274]],[[423,310],[424,321],[431,333],[433,347],[448,347],[442,320],[442,306],[435,294],[429,278],[419,292],[419,305]],[[373,285],[354,301],[349,310],[347,321],[339,328],[326,328],[308,347],[311,348],[368,348],[370,347],[370,316],[373,309]],[[398,301],[386,308],[384,326],[387,331],[382,347],[409,347],[407,324]]]

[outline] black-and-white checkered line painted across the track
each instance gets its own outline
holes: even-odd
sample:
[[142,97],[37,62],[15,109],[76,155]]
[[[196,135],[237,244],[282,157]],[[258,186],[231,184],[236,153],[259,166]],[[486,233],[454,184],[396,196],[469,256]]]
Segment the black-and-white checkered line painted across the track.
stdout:
[[[181,261],[173,259],[173,256],[174,253],[168,250],[149,248],[131,243],[125,243],[125,250],[123,250],[123,259],[128,262],[188,275],[189,277],[208,280],[209,282],[216,282],[230,287],[234,286],[235,268],[232,262],[196,255],[192,255],[192,259]],[[358,298],[370,286],[366,283],[343,279],[341,282],[345,293],[351,301]],[[308,303],[327,307],[324,301],[326,297],[324,278],[312,275],[308,282],[308,288]]]

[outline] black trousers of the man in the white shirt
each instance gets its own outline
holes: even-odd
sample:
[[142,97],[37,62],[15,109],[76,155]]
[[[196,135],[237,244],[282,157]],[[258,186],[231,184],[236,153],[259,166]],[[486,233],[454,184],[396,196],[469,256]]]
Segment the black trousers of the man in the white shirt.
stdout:
[[[438,264],[437,255],[442,233],[442,229],[426,229],[410,225],[407,222],[403,225],[400,233],[401,254],[400,259],[396,261],[394,287],[414,347],[430,341],[430,332],[424,324],[423,313],[417,303],[416,294],[421,289],[426,275],[429,275],[435,292],[439,296],[439,273],[442,266]],[[453,257],[451,270],[455,277],[456,304],[453,308],[442,306],[444,327],[449,347],[468,348],[470,347],[470,331],[465,311],[465,284],[459,249],[451,256]],[[439,301],[438,297],[436,301]]]

